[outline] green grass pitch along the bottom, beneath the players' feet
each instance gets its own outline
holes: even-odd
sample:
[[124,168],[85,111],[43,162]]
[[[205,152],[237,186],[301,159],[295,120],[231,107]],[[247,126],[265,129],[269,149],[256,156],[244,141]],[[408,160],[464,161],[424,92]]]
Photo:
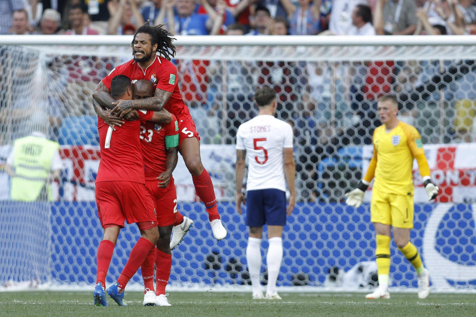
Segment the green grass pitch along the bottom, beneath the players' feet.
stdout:
[[0,292],[0,316],[133,317],[303,317],[303,316],[476,316],[476,294],[391,293],[389,300],[365,300],[365,293],[284,293],[282,301],[251,300],[250,293],[171,292],[172,307],[143,307],[140,292],[127,292],[128,307],[93,306],[91,292]]

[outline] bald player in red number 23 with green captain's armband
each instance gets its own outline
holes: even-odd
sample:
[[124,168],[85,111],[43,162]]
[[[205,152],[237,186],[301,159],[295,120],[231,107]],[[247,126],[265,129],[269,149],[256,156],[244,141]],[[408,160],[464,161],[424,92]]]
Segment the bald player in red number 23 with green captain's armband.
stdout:
[[[148,80],[141,79],[134,84],[132,91],[134,100],[147,99],[154,95],[154,85]],[[147,121],[140,125],[145,184],[155,200],[160,233],[157,248],[151,250],[141,266],[145,306],[171,306],[165,295],[172,266],[170,236],[177,217],[180,217],[179,223],[183,220],[183,216],[177,211],[177,192],[172,177],[179,159],[179,124],[175,115],[172,114],[172,117],[170,123]],[[156,292],[153,280],[154,263]]]

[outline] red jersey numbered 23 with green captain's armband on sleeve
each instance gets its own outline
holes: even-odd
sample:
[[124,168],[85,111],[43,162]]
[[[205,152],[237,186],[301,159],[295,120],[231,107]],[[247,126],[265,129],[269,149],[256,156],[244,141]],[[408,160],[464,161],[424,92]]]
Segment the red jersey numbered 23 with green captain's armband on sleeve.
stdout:
[[172,114],[172,121],[166,124],[145,122],[140,125],[140,139],[146,180],[156,180],[167,170],[168,147],[179,146],[179,123]]

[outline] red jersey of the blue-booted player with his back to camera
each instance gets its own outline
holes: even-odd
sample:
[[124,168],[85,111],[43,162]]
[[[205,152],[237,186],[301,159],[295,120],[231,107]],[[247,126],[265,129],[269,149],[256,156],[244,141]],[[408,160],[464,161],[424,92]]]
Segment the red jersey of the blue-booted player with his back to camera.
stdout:
[[[150,120],[153,111],[137,111],[140,120]],[[101,160],[99,161],[97,182],[130,181],[145,184],[144,163],[140,147],[140,120],[125,121],[116,126],[116,131],[98,117],[99,144]]]

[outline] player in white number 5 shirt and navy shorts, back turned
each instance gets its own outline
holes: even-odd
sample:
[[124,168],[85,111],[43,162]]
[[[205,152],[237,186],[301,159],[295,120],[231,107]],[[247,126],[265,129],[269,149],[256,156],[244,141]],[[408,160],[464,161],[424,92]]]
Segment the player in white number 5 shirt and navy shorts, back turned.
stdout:
[[[269,248],[266,255],[268,284],[266,299],[281,299],[276,280],[283,259],[283,226],[296,202],[293,158],[293,128],[276,119],[276,93],[269,87],[258,89],[254,96],[259,106],[256,117],[241,124],[237,133],[237,211],[246,204],[246,225],[249,226],[246,262],[251,275],[253,299],[262,299],[259,274],[261,270],[261,240],[263,225],[268,225]],[[241,193],[248,159],[246,200]],[[286,183],[290,192],[286,208]]]

